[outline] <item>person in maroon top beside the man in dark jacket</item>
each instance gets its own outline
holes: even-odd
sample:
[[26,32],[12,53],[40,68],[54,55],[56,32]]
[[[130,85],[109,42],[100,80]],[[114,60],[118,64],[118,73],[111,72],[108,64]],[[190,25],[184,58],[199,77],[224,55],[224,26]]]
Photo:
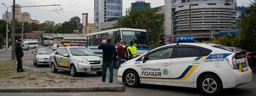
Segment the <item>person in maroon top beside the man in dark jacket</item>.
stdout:
[[124,63],[125,52],[124,52],[123,42],[124,41],[120,41],[119,46],[117,47],[118,68],[120,64]]

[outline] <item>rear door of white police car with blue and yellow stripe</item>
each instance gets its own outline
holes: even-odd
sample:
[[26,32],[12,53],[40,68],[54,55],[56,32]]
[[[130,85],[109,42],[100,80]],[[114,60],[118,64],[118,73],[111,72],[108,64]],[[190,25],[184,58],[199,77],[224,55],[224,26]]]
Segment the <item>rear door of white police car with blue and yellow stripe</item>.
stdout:
[[192,84],[204,60],[197,46],[177,45],[171,61],[171,78],[175,84]]

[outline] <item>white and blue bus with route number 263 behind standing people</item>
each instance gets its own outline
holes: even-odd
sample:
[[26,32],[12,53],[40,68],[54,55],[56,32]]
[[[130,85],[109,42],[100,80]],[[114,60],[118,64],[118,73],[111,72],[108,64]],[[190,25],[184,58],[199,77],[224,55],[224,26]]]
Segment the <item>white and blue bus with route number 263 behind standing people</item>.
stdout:
[[[121,40],[126,42],[127,46],[129,46],[130,41],[133,41],[134,46],[137,47],[137,56],[140,56],[150,50],[147,31],[131,28],[118,28],[87,34],[87,47],[95,54],[102,57],[102,50],[99,50],[98,46],[105,42],[108,37],[112,38],[112,44],[114,44],[116,48],[119,46],[118,43]],[[114,62],[114,67],[118,68],[118,62]]]

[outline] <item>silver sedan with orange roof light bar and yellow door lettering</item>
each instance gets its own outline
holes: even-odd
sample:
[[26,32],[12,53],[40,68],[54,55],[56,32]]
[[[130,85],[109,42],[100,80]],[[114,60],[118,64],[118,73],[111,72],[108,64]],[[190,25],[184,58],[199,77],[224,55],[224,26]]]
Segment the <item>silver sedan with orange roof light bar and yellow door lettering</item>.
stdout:
[[69,71],[71,76],[80,72],[96,72],[102,75],[102,58],[90,49],[79,46],[68,46],[57,49],[50,55],[52,72]]

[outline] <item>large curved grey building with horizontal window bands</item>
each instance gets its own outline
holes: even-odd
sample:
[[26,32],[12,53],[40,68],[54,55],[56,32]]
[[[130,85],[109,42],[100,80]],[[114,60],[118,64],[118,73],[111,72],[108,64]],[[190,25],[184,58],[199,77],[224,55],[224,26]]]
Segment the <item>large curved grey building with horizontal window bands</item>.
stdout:
[[[165,0],[167,36],[171,37],[172,32],[174,37],[189,36],[189,1],[191,0]],[[216,37],[221,30],[235,30],[235,7],[236,0],[192,0],[191,36],[200,41],[209,40],[212,26],[215,27],[213,34]]]

